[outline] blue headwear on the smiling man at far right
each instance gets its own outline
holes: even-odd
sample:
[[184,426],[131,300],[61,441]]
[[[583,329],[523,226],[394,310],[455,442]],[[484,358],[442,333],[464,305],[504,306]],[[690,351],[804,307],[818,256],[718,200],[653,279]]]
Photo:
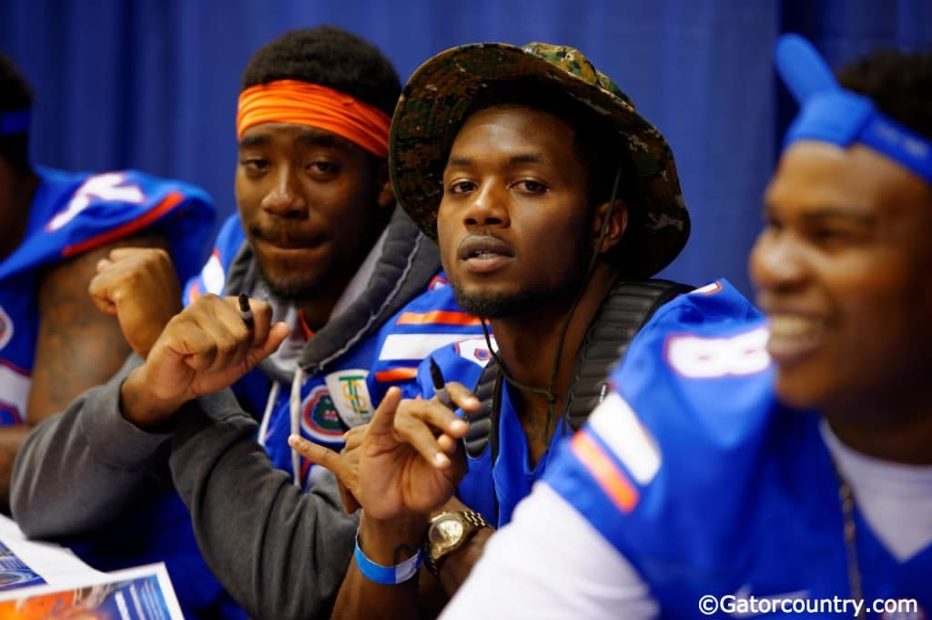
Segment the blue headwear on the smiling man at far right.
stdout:
[[797,140],[845,148],[859,142],[932,185],[932,141],[884,115],[867,97],[843,90],[811,43],[798,34],[784,34],[776,43],[774,60],[801,108],[783,148]]

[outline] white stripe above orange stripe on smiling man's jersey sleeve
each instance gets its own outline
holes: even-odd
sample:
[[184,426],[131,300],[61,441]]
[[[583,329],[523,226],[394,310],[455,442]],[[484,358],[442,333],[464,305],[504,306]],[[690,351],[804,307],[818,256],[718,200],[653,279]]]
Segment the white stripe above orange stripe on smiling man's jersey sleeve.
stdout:
[[660,469],[660,450],[637,420],[637,414],[617,392],[612,392],[589,416],[589,428],[624,463],[641,486],[648,484]]

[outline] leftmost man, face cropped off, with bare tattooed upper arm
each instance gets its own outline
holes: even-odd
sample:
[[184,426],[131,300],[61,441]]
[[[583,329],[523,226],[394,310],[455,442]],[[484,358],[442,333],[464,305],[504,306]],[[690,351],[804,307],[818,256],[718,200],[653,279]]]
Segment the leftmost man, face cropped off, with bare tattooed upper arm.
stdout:
[[[0,54],[0,510],[27,432],[117,372],[130,346],[94,307],[99,262],[126,246],[171,252],[194,274],[213,223],[199,187],[141,172],[90,174],[34,165],[32,92]],[[184,230],[182,229],[184,227]],[[154,251],[155,252],[155,251]],[[175,291],[180,299],[181,293]],[[155,313],[155,310],[153,310]],[[171,316],[171,315],[169,315]]]

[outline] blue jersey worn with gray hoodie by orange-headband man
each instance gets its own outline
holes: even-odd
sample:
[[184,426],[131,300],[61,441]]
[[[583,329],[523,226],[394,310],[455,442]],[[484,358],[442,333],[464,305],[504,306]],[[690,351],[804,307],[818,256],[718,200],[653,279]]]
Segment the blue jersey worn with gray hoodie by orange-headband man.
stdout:
[[[206,293],[223,295],[226,274],[244,241],[240,217],[233,214],[221,227],[207,264],[187,282],[185,304]],[[479,320],[459,309],[452,287],[438,273],[423,293],[373,336],[355,344],[323,372],[305,376],[294,412],[292,386],[279,385],[258,439],[277,467],[310,488],[319,470],[292,450],[289,434],[301,434],[327,448],[343,448],[343,434],[370,420],[391,386],[400,387],[407,398],[419,393],[418,365],[429,353],[481,333]],[[272,387],[265,373],[255,368],[233,385],[233,392],[259,417],[269,406]]]

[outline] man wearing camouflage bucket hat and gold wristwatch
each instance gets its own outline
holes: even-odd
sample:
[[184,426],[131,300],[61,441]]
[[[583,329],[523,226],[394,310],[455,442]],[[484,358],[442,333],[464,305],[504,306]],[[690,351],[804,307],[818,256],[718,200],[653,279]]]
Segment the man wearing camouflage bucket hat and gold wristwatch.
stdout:
[[342,460],[322,463],[363,507],[335,617],[408,617],[431,581],[413,579],[422,562],[442,599],[456,591],[604,394],[619,348],[690,290],[643,280],[689,236],[673,154],[576,49],[478,44],[432,58],[395,108],[389,159],[399,203],[495,341],[434,351],[422,398],[387,395],[358,482]]

